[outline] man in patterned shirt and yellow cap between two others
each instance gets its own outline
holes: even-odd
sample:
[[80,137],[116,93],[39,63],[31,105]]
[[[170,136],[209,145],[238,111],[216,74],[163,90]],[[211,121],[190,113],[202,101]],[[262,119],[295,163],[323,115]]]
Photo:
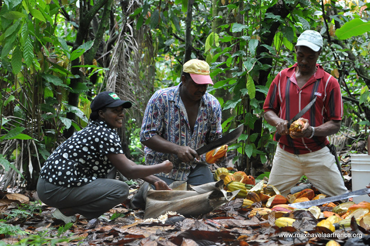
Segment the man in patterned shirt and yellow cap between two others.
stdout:
[[159,89],[147,103],[140,133],[145,164],[181,161],[171,172],[156,174],[167,184],[174,180],[192,185],[214,181],[205,154],[198,156],[195,151],[222,135],[221,106],[206,92],[208,84],[213,84],[209,65],[191,59],[183,64],[181,83]]

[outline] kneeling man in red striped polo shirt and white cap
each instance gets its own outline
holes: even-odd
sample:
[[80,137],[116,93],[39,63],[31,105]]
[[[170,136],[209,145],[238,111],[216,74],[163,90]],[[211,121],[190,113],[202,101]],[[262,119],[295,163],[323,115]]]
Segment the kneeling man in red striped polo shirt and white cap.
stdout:
[[[338,81],[316,63],[321,49],[320,33],[306,30],[300,34],[295,45],[296,63],[276,75],[263,104],[266,121],[281,135],[268,183],[282,195],[302,175],[326,195],[347,192],[334,155],[325,147],[327,136],[340,128],[343,104]],[[308,122],[302,131],[289,134],[288,120],[315,96],[314,105],[303,115]]]

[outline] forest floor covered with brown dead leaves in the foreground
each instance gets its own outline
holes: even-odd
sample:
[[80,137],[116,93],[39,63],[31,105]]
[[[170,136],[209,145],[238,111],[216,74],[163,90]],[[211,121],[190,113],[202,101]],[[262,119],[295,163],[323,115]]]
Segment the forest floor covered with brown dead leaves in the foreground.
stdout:
[[[340,153],[345,184],[351,190],[351,152]],[[130,186],[129,199],[138,188]],[[317,226],[308,210],[289,213],[269,212],[250,216],[253,208],[243,207],[236,198],[199,216],[181,214],[143,219],[144,210],[131,209],[129,199],[100,219],[87,220],[77,215],[75,223],[64,224],[52,217],[53,207],[41,203],[35,191],[4,192],[0,196],[1,245],[369,245],[370,226],[357,224],[333,232]],[[338,204],[336,202],[335,204]],[[319,206],[321,211],[332,207]],[[295,218],[291,226],[277,227],[275,220]],[[334,244],[332,244],[334,243]]]

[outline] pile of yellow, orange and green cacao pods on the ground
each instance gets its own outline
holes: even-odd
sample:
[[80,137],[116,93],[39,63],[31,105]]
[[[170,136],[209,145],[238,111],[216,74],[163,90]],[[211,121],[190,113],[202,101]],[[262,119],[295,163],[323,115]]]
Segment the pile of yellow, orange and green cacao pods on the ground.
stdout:
[[[289,206],[288,203],[320,199],[326,197],[326,195],[316,194],[317,190],[315,193],[315,190],[305,188],[294,194],[283,196],[273,185],[267,185],[263,180],[255,184],[252,176],[244,174],[240,171],[232,173],[228,169],[220,167],[215,170],[214,179],[223,179],[225,190],[239,190],[236,198],[243,199],[242,207],[250,210],[247,215],[249,218],[259,216],[267,219],[268,214],[274,211],[275,225],[285,227],[292,226],[292,223],[296,220],[290,215],[293,211],[307,210],[317,219],[316,226],[325,227],[332,232],[337,228],[349,227],[352,217],[354,217],[357,224],[370,229],[370,202],[362,201],[357,204],[353,201],[340,204],[330,202],[322,204],[321,208],[318,206],[294,208]],[[235,181],[235,177],[238,181]]]

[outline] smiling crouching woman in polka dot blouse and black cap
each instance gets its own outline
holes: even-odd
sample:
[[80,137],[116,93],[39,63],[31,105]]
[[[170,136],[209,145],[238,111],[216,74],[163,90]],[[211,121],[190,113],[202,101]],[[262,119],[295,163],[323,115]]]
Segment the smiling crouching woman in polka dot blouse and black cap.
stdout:
[[115,179],[116,170],[127,178],[142,178],[155,189],[170,189],[152,175],[169,172],[168,160],[156,165],[136,165],[123,153],[115,128],[122,126],[123,108],[131,102],[111,91],[91,102],[89,124],[60,144],[47,158],[37,182],[42,202],[56,207],[55,218],[74,222],[75,214],[97,218],[128,196],[128,185]]

